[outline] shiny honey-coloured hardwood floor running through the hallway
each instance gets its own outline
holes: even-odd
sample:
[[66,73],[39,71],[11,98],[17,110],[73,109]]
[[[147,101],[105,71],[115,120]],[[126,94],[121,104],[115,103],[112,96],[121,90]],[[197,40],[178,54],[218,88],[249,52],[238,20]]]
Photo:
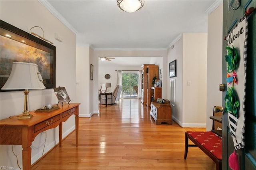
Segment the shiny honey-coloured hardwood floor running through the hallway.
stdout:
[[100,114],[79,119],[75,132],[56,146],[32,170],[215,170],[215,163],[197,147],[184,160],[184,132],[205,128],[155,125],[150,108],[138,99],[120,99],[100,107]]

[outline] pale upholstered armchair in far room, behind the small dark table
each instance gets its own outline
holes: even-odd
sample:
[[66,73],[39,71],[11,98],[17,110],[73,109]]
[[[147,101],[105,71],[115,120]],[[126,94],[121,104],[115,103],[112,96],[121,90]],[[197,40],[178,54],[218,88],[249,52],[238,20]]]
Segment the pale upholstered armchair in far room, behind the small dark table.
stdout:
[[[107,104],[115,104],[116,102],[119,101],[120,94],[122,91],[122,86],[116,85],[114,88],[114,91],[112,92],[112,101],[111,101],[111,95],[107,95]],[[103,99],[104,98],[104,99]],[[103,105],[106,105],[106,96],[105,95],[100,95],[100,103]]]

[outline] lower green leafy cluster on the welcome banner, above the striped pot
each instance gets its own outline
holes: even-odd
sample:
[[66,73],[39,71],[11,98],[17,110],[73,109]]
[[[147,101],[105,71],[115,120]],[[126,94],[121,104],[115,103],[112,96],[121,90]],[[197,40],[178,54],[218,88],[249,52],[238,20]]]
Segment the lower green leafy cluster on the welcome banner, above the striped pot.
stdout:
[[234,115],[236,118],[238,118],[238,111],[239,111],[239,99],[238,95],[234,89],[234,86],[231,88],[228,87],[227,93],[225,96],[225,109],[228,113],[231,113]]

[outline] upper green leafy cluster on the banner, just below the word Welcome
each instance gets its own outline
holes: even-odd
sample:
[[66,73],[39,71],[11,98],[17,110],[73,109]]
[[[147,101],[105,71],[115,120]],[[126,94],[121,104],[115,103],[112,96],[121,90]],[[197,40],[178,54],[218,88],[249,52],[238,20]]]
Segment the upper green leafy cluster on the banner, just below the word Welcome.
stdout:
[[227,46],[226,49],[228,50],[228,55],[225,55],[225,60],[228,63],[228,73],[234,71],[239,64],[240,57],[236,51],[236,48],[232,45],[233,48]]

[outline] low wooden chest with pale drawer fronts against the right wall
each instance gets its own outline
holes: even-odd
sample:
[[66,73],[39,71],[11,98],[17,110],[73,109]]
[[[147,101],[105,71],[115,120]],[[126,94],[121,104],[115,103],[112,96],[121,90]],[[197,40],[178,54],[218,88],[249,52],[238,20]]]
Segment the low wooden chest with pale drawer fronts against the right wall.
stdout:
[[164,99],[164,103],[152,102],[150,116],[153,117],[156,125],[160,125],[162,123],[172,125],[172,108],[170,105],[170,101]]

